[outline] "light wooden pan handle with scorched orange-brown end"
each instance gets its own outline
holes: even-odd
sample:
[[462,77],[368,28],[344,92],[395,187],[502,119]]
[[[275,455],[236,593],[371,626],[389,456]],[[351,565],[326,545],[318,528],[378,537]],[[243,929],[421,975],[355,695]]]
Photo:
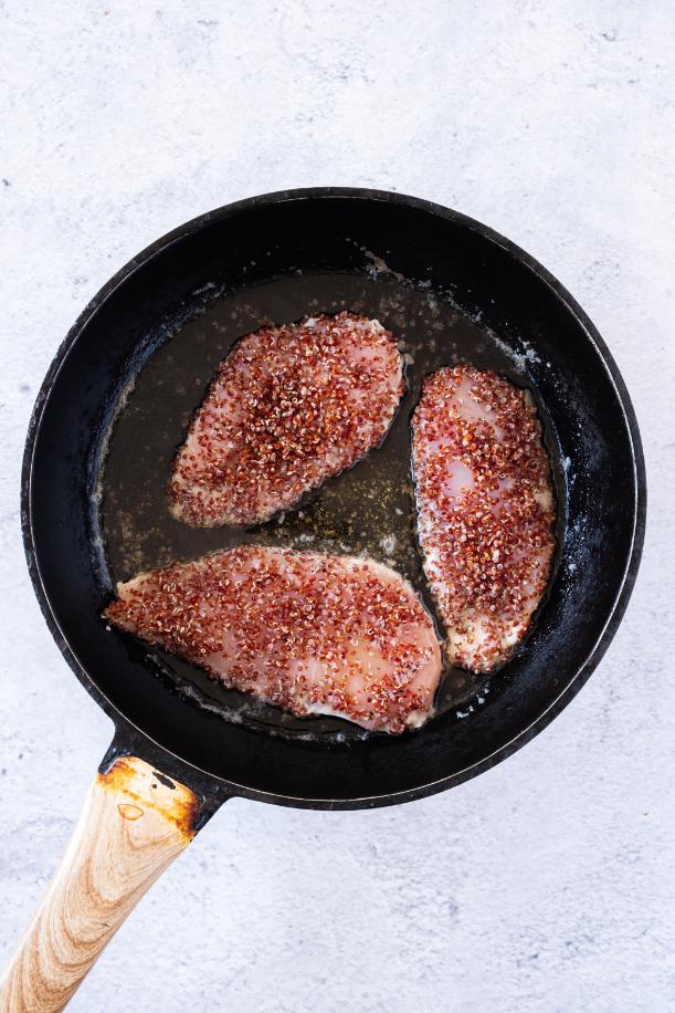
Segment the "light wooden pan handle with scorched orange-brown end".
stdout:
[[89,789],[50,888],[0,981],[0,1013],[53,1013],[157,877],[194,836],[184,785],[117,759]]

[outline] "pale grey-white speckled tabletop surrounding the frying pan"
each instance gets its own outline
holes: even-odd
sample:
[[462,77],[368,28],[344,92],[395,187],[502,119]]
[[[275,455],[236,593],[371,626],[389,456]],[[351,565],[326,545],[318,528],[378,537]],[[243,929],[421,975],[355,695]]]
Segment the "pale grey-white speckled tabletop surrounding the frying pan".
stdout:
[[112,731],[23,562],[43,373],[157,236],[254,192],[352,184],[488,222],[598,324],[651,482],[633,601],[583,692],[479,780],[379,812],[229,804],[72,1009],[673,1010],[672,4],[8,0],[0,33],[0,961]]

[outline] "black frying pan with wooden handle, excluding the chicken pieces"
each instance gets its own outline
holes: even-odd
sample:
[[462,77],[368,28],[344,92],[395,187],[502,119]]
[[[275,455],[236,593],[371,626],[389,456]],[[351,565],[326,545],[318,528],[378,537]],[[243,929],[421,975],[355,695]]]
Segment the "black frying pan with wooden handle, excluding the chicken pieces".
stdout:
[[[232,342],[267,321],[351,309],[407,349],[390,437],[300,509],[249,532],[169,518],[166,480]],[[529,387],[558,497],[558,556],[534,630],[481,682],[445,673],[437,714],[401,737],[300,721],[106,628],[114,582],[235,541],[368,551],[426,593],[408,422],[424,372],[468,361]],[[639,566],[645,476],[612,357],[562,285],[496,232],[436,205],[323,188],[203,215],[128,263],[86,307],[40,390],[22,524],[46,623],[115,722],[46,898],[3,979],[2,1010],[57,1010],[149,885],[228,798],[363,808],[482,773],[588,679]]]

